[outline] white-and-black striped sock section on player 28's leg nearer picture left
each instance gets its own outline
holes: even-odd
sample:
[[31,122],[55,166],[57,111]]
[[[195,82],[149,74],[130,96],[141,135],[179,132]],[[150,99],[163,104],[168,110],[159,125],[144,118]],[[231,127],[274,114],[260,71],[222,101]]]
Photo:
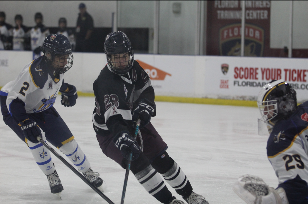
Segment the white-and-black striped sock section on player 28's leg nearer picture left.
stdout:
[[136,173],[135,177],[138,182],[145,188],[145,190],[153,196],[166,186],[164,180],[160,177],[158,172],[152,167],[151,164],[142,171]]

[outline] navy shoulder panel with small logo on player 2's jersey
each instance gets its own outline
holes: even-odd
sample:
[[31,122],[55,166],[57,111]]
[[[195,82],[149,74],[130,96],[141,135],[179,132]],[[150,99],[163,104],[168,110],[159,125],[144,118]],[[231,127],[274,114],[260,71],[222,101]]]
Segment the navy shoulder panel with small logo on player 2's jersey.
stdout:
[[47,70],[45,70],[45,61],[43,56],[33,61],[29,67],[29,72],[34,85],[40,89],[43,89],[48,79],[48,73]]

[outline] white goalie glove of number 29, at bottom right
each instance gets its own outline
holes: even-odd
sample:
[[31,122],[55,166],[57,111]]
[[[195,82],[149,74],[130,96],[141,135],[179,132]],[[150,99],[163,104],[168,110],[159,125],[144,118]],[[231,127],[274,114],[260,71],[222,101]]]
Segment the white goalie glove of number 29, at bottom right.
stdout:
[[233,191],[248,204],[289,204],[283,188],[275,190],[253,175],[241,176],[234,184]]

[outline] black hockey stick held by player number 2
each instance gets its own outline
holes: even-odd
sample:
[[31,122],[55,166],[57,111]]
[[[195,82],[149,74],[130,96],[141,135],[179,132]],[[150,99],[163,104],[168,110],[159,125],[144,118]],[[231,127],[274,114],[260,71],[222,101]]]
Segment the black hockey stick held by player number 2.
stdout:
[[82,179],[84,182],[86,182],[96,193],[98,193],[102,198],[105,199],[109,204],[115,204],[112,202],[105,194],[103,194],[101,191],[99,191],[98,188],[96,188],[86,177],[84,177],[79,171],[77,171],[70,163],[68,163],[62,156],[58,154],[51,146],[49,146],[46,142],[42,140],[41,137],[37,137],[37,140],[39,140],[49,151],[51,151],[56,157],[58,157],[59,160],[61,160],[67,167],[69,167],[77,176],[79,176],[80,179]]

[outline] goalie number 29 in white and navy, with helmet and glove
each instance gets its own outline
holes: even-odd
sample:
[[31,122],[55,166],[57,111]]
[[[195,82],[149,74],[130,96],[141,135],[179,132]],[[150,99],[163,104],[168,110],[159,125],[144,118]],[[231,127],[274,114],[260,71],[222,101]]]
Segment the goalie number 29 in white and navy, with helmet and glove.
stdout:
[[249,204],[307,204],[308,101],[297,106],[295,90],[281,79],[266,84],[257,103],[264,121],[273,127],[266,149],[278,187],[244,175],[233,189]]

